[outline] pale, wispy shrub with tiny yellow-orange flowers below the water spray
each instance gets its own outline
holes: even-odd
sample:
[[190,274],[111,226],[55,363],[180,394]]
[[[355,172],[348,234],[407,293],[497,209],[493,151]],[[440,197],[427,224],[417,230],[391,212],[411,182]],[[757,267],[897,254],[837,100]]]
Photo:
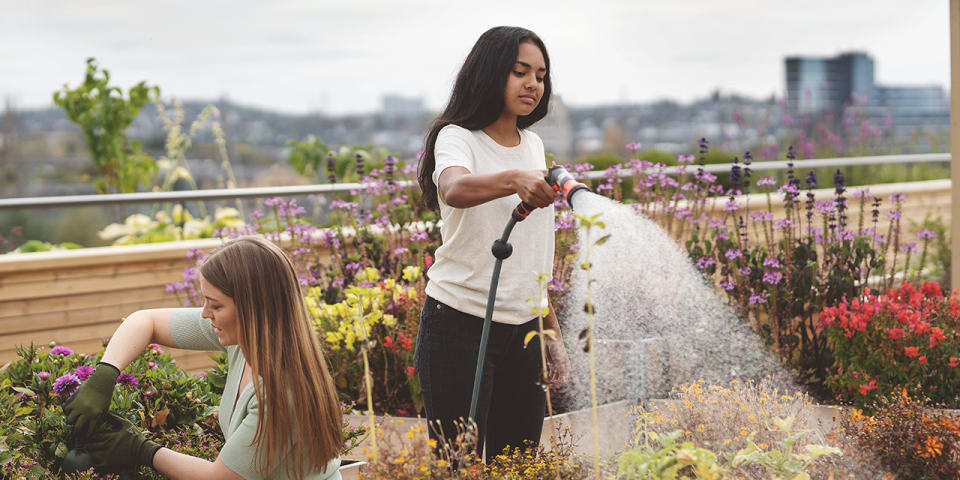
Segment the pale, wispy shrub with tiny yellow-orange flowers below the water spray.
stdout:
[[[713,472],[709,452],[717,459],[717,471],[731,478],[766,479],[790,471],[875,473],[850,449],[837,455],[841,452],[835,448],[843,444],[814,428],[817,420],[806,394],[783,392],[766,382],[733,380],[727,387],[687,384],[675,400],[648,402],[638,412],[630,450],[634,464],[684,457]],[[659,445],[649,444],[651,433]]]

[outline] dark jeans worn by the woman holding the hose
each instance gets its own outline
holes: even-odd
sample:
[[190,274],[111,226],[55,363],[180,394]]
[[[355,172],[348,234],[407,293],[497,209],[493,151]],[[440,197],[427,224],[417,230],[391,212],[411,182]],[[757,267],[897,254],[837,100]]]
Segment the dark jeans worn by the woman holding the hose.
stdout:
[[[537,384],[539,340],[535,337],[523,348],[523,337],[536,328],[536,319],[522,325],[493,322],[490,326],[476,418],[477,451],[483,452],[486,440],[488,458],[508,446],[540,442],[546,394]],[[432,439],[452,441],[457,434],[454,422],[470,414],[482,330],[482,318],[427,297],[413,361]]]

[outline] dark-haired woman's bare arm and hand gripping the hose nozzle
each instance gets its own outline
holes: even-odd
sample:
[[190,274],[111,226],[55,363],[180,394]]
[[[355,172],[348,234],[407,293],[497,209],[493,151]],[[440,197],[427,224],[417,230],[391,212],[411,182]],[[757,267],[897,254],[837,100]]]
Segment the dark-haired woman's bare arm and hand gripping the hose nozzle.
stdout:
[[506,170],[499,173],[470,173],[463,167],[449,167],[440,173],[437,191],[454,208],[474,207],[516,193],[536,208],[553,203],[557,193],[543,177],[546,170]]

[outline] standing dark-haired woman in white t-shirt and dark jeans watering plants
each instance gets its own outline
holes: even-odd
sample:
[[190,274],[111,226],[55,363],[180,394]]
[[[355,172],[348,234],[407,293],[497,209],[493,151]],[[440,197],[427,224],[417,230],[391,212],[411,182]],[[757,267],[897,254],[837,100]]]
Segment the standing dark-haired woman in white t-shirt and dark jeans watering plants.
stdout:
[[[556,193],[544,180],[543,142],[527,130],[547,114],[550,57],[535,33],[495,27],[477,40],[457,75],[446,109],[427,134],[418,182],[429,208],[439,207],[442,245],[435,254],[420,314],[414,363],[430,437],[455,437],[469,416],[480,334],[494,257],[510,213],[523,200],[537,207],[512,234],[503,262],[477,407],[478,453],[536,444],[546,396],[531,310],[549,305],[537,274],[551,274]],[[550,308],[544,328],[548,383],[562,384],[567,356]]]

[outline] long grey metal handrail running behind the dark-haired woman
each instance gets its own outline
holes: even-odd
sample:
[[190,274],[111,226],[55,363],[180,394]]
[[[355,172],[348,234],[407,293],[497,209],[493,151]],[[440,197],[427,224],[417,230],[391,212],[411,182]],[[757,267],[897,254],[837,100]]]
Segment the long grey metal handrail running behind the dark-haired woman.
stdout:
[[[870,157],[841,157],[841,158],[819,158],[811,160],[798,160],[794,162],[794,168],[821,168],[821,167],[852,167],[859,165],[885,165],[885,164],[913,164],[913,163],[943,163],[950,162],[949,153],[925,153],[914,155],[882,155]],[[743,164],[740,164],[743,166]],[[729,163],[714,163],[704,166],[704,169],[711,173],[726,172],[730,169]],[[679,169],[678,166],[668,167],[667,172],[673,172]],[[696,169],[696,165],[687,166],[688,171]],[[754,162],[750,165],[753,171],[785,170],[787,161],[774,162]],[[623,169],[621,176],[629,176],[630,169]],[[591,171],[587,173],[588,178],[604,178],[603,171]],[[414,184],[411,181],[397,182],[403,187]],[[59,208],[59,207],[86,207],[100,205],[128,205],[137,203],[155,203],[155,202],[188,202],[202,200],[232,200],[237,198],[264,198],[290,195],[329,195],[335,193],[346,193],[362,190],[366,185],[361,183],[334,183],[317,185],[296,185],[284,187],[251,187],[251,188],[232,188],[232,189],[213,189],[213,190],[187,190],[175,192],[141,192],[141,193],[114,193],[100,195],[61,195],[54,197],[22,197],[22,198],[0,198],[0,211],[3,210],[25,210],[38,208]]]

